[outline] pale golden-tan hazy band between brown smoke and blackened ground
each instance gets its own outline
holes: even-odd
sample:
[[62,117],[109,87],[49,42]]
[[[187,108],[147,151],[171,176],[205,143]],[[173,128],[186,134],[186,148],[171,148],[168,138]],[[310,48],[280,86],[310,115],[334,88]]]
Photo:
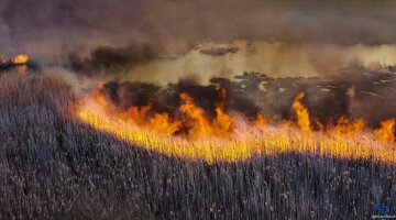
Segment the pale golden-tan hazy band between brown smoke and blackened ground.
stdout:
[[[205,52],[238,48],[217,56]],[[212,77],[233,77],[258,72],[272,77],[334,76],[351,65],[381,69],[396,65],[396,45],[295,44],[285,42],[235,41],[228,44],[202,43],[177,58],[161,58],[124,69],[124,80],[176,82],[189,75],[205,84]],[[111,77],[110,77],[111,78]]]

